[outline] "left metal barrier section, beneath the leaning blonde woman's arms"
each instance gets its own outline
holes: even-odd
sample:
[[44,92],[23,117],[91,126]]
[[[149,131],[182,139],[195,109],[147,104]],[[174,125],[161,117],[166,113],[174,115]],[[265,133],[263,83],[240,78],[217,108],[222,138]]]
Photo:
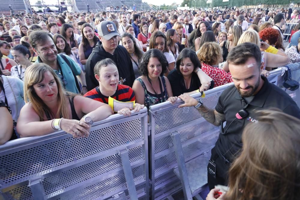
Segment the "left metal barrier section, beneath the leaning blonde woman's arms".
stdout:
[[148,199],[147,109],[0,146],[0,199]]

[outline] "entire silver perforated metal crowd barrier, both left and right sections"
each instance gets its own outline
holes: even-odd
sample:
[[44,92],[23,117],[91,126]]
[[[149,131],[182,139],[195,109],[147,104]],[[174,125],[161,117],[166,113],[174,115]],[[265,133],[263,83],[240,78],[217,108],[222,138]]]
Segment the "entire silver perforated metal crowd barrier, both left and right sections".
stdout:
[[[282,88],[280,74],[273,70],[268,80]],[[205,106],[213,109],[229,85],[208,90]],[[300,107],[300,89],[283,89]],[[219,127],[182,103],[150,106],[149,124],[144,108],[95,123],[88,138],[61,131],[0,145],[0,199],[165,199],[182,189],[197,196]],[[195,163],[202,163],[196,181],[187,173]]]

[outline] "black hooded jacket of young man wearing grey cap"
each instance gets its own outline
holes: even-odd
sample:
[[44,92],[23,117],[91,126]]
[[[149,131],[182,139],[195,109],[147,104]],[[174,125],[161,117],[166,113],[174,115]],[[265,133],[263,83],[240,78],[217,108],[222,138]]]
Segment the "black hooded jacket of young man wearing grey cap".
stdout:
[[90,91],[99,85],[99,82],[94,75],[94,67],[98,61],[101,61],[105,58],[111,58],[113,61],[115,61],[119,71],[119,79],[121,80],[122,78],[123,80],[123,83],[121,84],[132,87],[135,77],[132,62],[127,50],[123,46],[118,45],[115,49],[114,55],[111,55],[110,53],[106,52],[102,44],[98,42],[85,64],[85,80],[87,90]]

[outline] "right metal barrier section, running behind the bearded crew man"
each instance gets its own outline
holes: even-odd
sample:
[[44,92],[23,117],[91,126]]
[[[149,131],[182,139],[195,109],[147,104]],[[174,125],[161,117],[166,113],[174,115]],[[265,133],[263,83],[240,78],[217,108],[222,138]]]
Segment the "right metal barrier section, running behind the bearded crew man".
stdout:
[[[282,88],[300,107],[300,89],[282,87],[281,68],[273,70],[268,81]],[[204,105],[214,108],[220,94],[230,84],[206,91]],[[200,94],[193,94],[199,99]],[[182,101],[150,106],[149,177],[152,199],[165,199],[183,189],[185,199],[195,196],[207,183],[210,150],[220,133],[219,127],[205,121],[194,107],[178,108]],[[195,167],[196,166],[196,167]],[[179,177],[179,178],[178,178]],[[172,199],[172,198],[170,198]]]

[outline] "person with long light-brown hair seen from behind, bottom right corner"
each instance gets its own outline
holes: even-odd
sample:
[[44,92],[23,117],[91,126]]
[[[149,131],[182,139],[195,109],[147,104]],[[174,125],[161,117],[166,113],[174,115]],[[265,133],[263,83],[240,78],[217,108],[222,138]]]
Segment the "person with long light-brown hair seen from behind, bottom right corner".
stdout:
[[300,190],[300,120],[281,110],[256,112],[242,134],[241,155],[229,169],[229,190],[206,200],[296,200]]

